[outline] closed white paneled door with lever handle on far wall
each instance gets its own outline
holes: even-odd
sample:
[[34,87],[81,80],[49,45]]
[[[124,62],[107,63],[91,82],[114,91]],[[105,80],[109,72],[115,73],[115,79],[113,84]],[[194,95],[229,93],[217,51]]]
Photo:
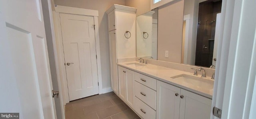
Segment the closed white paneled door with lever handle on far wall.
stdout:
[[69,100],[99,93],[94,18],[60,13]]

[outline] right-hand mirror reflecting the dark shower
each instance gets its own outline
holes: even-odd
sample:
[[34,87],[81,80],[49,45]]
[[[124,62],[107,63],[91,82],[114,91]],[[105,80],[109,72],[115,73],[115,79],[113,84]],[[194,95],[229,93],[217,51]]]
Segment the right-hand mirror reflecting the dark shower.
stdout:
[[182,63],[216,65],[221,4],[222,0],[184,0]]

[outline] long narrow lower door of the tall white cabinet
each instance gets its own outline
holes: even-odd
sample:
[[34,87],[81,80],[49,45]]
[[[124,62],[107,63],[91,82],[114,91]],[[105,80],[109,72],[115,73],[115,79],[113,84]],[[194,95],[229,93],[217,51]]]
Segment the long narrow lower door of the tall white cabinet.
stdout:
[[111,88],[118,95],[118,70],[116,56],[116,30],[109,32]]

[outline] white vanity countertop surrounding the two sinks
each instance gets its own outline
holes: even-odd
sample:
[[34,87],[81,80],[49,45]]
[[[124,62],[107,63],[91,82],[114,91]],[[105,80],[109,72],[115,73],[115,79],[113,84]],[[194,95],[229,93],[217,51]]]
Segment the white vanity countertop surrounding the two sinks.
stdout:
[[[213,89],[212,90],[204,90],[203,88],[197,88],[196,86],[193,86],[193,84],[187,84],[187,83],[183,83],[180,81],[177,82],[177,80],[170,78],[170,77],[178,76],[181,74],[187,74],[190,76],[194,76],[193,73],[191,73],[191,72],[184,72],[184,71],[180,71],[180,70],[176,70],[176,69],[172,69],[172,68],[166,68],[163,66],[152,65],[152,64],[146,64],[145,66],[137,66],[136,67],[136,66],[132,66],[132,65],[127,65],[127,63],[132,63],[132,62],[122,62],[122,63],[118,63],[118,65],[128,68],[130,70],[134,70],[138,73],[150,76],[150,77],[160,80],[162,82],[172,84],[174,86],[183,88],[190,92],[194,92],[196,94],[199,94],[199,95],[202,95],[202,96],[212,99]],[[196,77],[202,78],[201,74],[198,74],[198,76],[196,76]],[[214,81],[211,79],[211,77],[206,77],[206,78],[202,78],[202,79],[205,81]],[[212,87],[213,87],[213,83],[212,83]]]

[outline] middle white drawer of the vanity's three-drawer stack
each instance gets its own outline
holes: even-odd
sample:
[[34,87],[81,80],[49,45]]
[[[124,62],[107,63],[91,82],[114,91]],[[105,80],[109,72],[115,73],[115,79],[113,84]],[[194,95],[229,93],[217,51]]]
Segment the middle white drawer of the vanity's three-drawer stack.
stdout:
[[156,91],[135,81],[135,96],[156,110]]

